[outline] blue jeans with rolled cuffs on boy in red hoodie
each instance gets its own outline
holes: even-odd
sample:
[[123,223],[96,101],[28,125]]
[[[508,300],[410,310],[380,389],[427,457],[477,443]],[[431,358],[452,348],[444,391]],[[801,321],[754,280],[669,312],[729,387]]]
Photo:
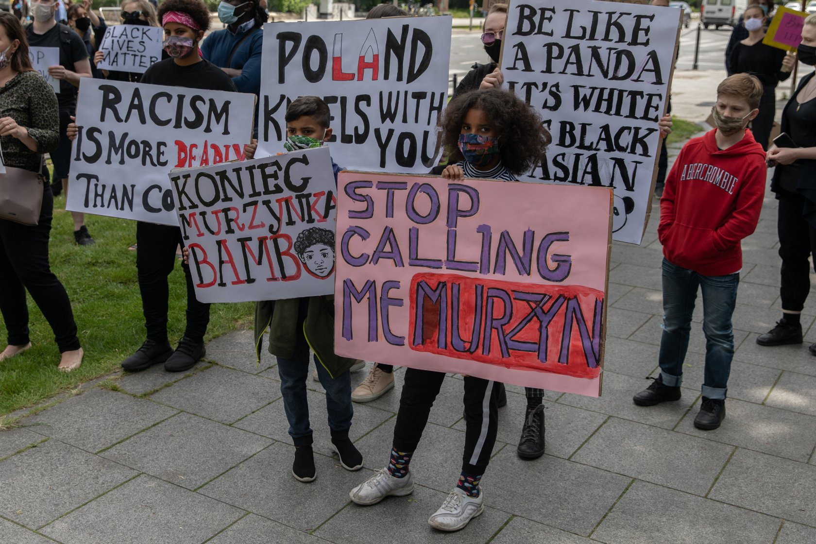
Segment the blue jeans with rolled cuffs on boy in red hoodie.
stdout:
[[698,286],[703,290],[703,333],[706,335],[706,368],[703,396],[725,399],[734,329],[731,316],[737,303],[739,273],[703,276],[663,259],[663,337],[660,338],[660,376],[670,387],[683,383],[683,361],[689,347],[691,314]]

